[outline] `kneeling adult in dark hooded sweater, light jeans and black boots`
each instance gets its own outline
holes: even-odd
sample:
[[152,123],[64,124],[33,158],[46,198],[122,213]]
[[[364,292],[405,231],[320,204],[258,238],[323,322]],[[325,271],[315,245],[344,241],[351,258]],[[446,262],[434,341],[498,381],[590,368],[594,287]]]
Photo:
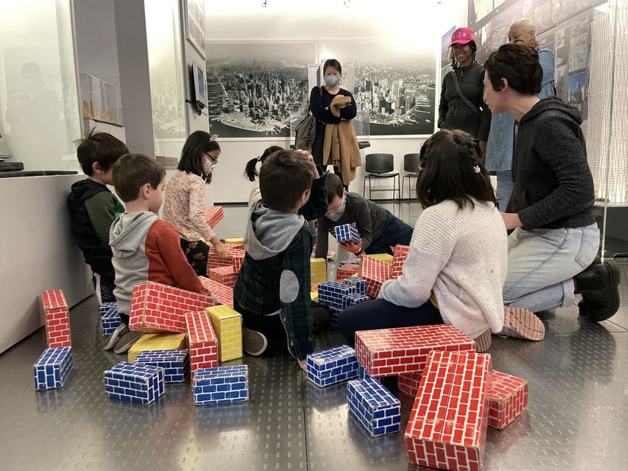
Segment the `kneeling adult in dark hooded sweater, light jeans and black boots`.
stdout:
[[539,100],[543,69],[530,46],[503,45],[484,68],[487,105],[495,114],[511,112],[519,123],[512,197],[500,213],[506,229],[514,229],[504,304],[538,312],[570,306],[581,293],[580,314],[605,320],[619,309],[619,269],[591,264],[600,231],[581,114],[557,97]]

